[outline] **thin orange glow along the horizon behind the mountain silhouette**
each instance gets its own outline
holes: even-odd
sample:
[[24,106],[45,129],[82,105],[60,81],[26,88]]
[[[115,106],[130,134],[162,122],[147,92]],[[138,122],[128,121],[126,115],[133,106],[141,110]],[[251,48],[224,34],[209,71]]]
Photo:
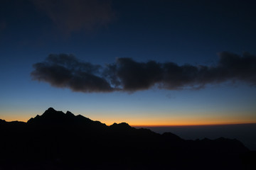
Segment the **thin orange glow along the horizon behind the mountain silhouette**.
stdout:
[[[32,115],[32,116],[31,116]],[[39,114],[41,115],[41,114]],[[75,114],[77,115],[77,114]],[[10,121],[22,121],[27,122],[30,118],[34,118],[34,113],[18,114],[5,114],[1,115],[0,119]],[[224,115],[153,115],[153,116],[130,116],[130,115],[84,115],[91,120],[98,120],[106,125],[112,125],[113,123],[128,123],[133,127],[156,127],[156,126],[196,126],[196,125],[235,125],[235,124],[247,124],[256,123],[256,116],[224,116]]]

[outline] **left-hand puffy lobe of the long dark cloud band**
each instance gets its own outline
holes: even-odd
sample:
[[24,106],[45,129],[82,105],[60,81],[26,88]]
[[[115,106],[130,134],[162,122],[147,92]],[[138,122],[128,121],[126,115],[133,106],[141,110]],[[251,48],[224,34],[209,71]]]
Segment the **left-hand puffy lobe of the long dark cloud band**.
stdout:
[[106,79],[99,76],[101,66],[80,62],[73,55],[49,55],[45,62],[33,64],[34,80],[73,91],[113,91]]

